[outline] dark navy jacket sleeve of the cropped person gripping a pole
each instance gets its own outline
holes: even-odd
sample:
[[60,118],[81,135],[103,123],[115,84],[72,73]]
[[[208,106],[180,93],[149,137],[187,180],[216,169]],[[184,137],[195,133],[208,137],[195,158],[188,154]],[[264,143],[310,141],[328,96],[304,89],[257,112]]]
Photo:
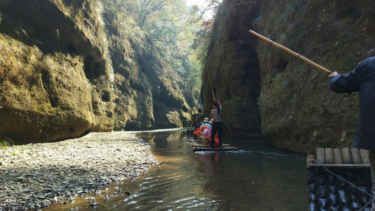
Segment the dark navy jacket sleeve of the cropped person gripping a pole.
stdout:
[[363,73],[362,62],[351,72],[335,75],[329,82],[332,92],[348,93],[358,92]]

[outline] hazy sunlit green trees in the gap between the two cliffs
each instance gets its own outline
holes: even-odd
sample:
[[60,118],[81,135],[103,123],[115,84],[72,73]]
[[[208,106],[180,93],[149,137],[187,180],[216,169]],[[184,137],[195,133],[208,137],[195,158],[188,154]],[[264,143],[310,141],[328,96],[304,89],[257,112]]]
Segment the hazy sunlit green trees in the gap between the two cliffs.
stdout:
[[[108,25],[116,27],[120,34],[130,38],[140,38],[147,33],[147,38],[153,41],[161,53],[161,59],[180,76],[174,78],[180,88],[190,93],[200,90],[201,70],[208,47],[205,42],[208,42],[213,24],[213,20],[210,20],[210,29],[204,29],[202,23],[206,22],[205,12],[217,8],[219,3],[220,1],[207,0],[206,7],[200,8],[196,5],[187,7],[181,0],[105,0],[108,13],[113,14],[113,23]],[[204,41],[197,38],[199,31],[204,33]],[[197,41],[193,47],[195,40]],[[133,39],[130,42],[135,41]]]

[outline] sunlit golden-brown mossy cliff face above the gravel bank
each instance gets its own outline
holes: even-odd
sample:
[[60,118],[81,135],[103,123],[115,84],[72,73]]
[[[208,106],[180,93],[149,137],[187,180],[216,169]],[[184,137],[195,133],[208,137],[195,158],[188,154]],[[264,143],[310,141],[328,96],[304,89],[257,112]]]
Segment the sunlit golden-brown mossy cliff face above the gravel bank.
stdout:
[[152,42],[111,32],[104,8],[88,0],[0,1],[0,139],[46,142],[188,120]]

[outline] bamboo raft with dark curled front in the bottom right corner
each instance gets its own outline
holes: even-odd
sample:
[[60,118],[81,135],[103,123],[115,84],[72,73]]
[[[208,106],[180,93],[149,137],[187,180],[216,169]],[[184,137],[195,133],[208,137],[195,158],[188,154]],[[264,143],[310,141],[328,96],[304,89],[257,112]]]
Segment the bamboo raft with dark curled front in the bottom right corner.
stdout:
[[309,211],[358,211],[361,208],[370,211],[369,163],[369,151],[358,148],[317,148],[316,156],[308,155]]

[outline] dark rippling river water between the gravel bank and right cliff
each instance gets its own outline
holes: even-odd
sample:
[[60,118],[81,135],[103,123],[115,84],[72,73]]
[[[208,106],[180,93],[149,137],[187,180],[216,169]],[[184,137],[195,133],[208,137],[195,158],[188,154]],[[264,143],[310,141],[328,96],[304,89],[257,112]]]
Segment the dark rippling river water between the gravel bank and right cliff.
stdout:
[[[275,148],[264,139],[224,143],[240,151],[192,152],[186,132],[138,133],[158,164],[130,181],[109,185],[97,208],[79,210],[307,210],[306,158]],[[120,193],[117,191],[122,190]],[[131,190],[131,194],[124,191]],[[98,196],[96,197],[98,199]],[[70,206],[71,207],[71,206]]]

